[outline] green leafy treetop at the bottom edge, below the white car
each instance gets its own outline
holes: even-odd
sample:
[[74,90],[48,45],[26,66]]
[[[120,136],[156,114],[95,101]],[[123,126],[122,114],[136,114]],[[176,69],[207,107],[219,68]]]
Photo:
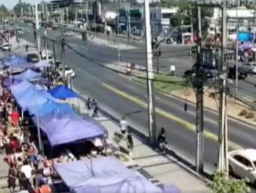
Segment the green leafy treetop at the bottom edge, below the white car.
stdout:
[[250,187],[246,185],[246,180],[226,179],[223,172],[216,172],[213,176],[210,188],[214,193],[248,193]]

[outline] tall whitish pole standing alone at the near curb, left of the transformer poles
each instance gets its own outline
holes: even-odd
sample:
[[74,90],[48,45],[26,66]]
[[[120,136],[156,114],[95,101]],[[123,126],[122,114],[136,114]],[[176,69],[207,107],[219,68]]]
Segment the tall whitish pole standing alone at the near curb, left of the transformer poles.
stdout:
[[146,57],[147,57],[147,103],[149,116],[149,143],[156,141],[156,114],[154,107],[154,73],[152,61],[151,27],[149,17],[149,0],[144,1],[145,10],[145,32],[146,32]]

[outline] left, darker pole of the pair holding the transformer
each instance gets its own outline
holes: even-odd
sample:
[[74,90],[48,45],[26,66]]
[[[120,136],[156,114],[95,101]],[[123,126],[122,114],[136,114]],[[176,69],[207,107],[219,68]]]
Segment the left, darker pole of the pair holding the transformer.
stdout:
[[[201,6],[197,6],[198,25],[198,54],[196,65],[196,172],[203,173],[203,81],[200,79],[201,70]],[[199,80],[199,81],[197,81]]]

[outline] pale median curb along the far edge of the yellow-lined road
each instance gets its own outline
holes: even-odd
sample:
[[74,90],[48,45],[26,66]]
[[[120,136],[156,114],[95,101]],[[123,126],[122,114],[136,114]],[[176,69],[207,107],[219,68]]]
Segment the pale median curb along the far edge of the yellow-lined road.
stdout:
[[[145,85],[144,83],[141,83],[140,81],[137,81],[137,80],[134,79],[134,78],[132,78],[131,80],[134,81],[134,82],[136,82],[136,83],[139,83],[140,85]],[[176,99],[179,99],[179,100],[181,100],[181,101],[185,101],[183,98],[181,98],[181,97],[179,97],[179,96],[175,96],[175,95],[173,95],[173,94],[170,94],[169,92],[165,92],[164,90],[157,89],[157,88],[155,88],[155,90],[158,91],[158,92],[161,92],[161,93],[163,93],[163,94],[170,95],[170,96],[172,96],[172,97],[174,97],[174,98],[176,98]],[[196,103],[193,103],[193,102],[191,102],[191,101],[187,101],[187,103],[189,103],[190,105],[196,106]],[[206,110],[208,110],[209,112],[212,112],[212,113],[214,113],[214,114],[218,114],[218,112],[215,111],[215,110],[212,110],[212,109],[210,109],[210,108],[208,108],[208,107],[204,107],[204,108],[205,108]],[[248,122],[246,122],[246,121],[244,121],[244,120],[237,119],[237,118],[235,118],[234,116],[228,115],[228,118],[231,119],[232,121],[241,122],[241,123],[243,123],[243,124],[245,124],[245,125],[249,125],[249,126],[251,126],[251,127],[253,127],[253,128],[256,128],[256,125],[253,125],[253,123],[248,123]]]

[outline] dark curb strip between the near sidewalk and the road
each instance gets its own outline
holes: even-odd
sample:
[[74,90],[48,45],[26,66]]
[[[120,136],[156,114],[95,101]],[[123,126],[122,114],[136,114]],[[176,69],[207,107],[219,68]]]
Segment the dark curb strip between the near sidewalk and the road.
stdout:
[[[105,111],[103,109],[100,109],[100,112],[102,112],[102,114],[104,114],[104,116],[107,116],[109,119],[111,119],[115,123],[119,123],[119,119],[116,118],[115,116],[113,116],[112,114],[109,114],[107,111]],[[190,174],[194,174],[194,176],[196,176],[196,177],[200,176],[200,174],[197,174],[195,172],[196,171],[195,165],[193,165],[189,161],[183,159],[181,156],[179,156],[179,154],[176,154],[176,152],[174,150],[171,150],[170,148],[167,148],[167,150],[165,150],[165,153],[163,153],[159,150],[158,145],[149,145],[148,136],[143,134],[143,132],[140,132],[136,128],[131,127],[130,125],[128,126],[128,129],[131,130],[131,132],[134,134],[134,136],[136,136],[138,138],[138,140],[140,140],[142,143],[144,143],[145,145],[152,148],[152,150],[162,153],[163,156],[165,156],[165,158],[169,159],[170,161],[171,161],[171,159],[168,156],[172,156],[174,159],[176,159],[177,164],[182,163],[182,164],[179,164],[179,166],[182,167],[184,170],[186,170],[187,172],[190,172]],[[191,170],[193,170],[194,172],[192,172]],[[209,180],[212,180],[212,174],[208,174],[207,172],[203,172],[203,174],[201,174],[201,175],[204,176],[205,178],[209,179]]]

